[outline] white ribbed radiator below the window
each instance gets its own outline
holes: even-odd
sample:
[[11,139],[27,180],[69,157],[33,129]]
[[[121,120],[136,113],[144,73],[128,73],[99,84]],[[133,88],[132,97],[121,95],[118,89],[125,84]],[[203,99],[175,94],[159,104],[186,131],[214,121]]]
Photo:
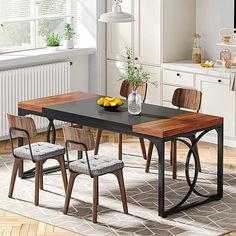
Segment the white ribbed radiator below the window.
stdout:
[[[17,114],[19,101],[70,91],[70,62],[37,65],[0,71],[0,139],[8,136],[7,113]],[[33,117],[37,129],[48,125],[45,118]],[[56,122],[56,125],[59,125]]]

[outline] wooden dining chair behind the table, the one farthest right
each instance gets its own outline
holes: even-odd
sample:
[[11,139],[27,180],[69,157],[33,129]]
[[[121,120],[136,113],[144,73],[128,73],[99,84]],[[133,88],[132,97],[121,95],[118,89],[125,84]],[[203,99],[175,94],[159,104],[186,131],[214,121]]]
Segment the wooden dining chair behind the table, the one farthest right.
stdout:
[[[178,109],[184,108],[188,110],[192,110],[195,112],[199,112],[201,107],[202,93],[195,89],[184,89],[177,88],[174,91],[172,97],[172,105],[178,107]],[[193,144],[196,139],[195,135],[186,136],[191,143]],[[149,172],[150,163],[152,158],[153,151],[153,143],[149,143],[148,154],[147,154],[147,162],[146,162],[146,172]],[[198,171],[201,171],[201,164],[199,159],[199,152],[197,144],[194,146],[194,150],[196,153],[196,163]],[[177,178],[177,142],[171,141],[171,149],[170,149],[170,164],[173,166],[173,179]]]

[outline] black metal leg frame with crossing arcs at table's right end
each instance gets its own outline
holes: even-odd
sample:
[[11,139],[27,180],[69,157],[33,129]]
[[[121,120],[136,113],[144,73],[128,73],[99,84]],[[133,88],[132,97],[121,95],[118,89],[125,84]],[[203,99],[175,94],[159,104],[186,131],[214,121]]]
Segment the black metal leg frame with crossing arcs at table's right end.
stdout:
[[[211,195],[206,195],[200,193],[195,187],[197,185],[198,179],[198,168],[197,168],[197,153],[195,151],[195,145],[199,142],[199,140],[211,130],[216,130],[217,132],[217,191]],[[183,136],[184,137],[184,136]],[[158,156],[159,156],[159,172],[158,172],[158,202],[159,202],[159,209],[158,214],[161,217],[166,217],[170,214],[198,206],[207,202],[211,202],[214,200],[219,200],[223,197],[223,125],[212,127],[211,129],[205,130],[198,135],[195,141],[191,144],[188,143],[186,140],[182,139],[182,137],[172,138],[171,140],[177,140],[185,144],[189,151],[187,153],[186,163],[185,163],[185,176],[186,181],[189,186],[189,190],[183,197],[183,199],[177,203],[175,206],[165,210],[165,147],[164,144],[168,140],[164,139],[150,139],[157,148]],[[193,154],[193,155],[191,155]],[[194,175],[190,178],[189,174],[189,167],[190,167],[190,159],[191,157],[194,158]],[[192,180],[191,180],[192,179]],[[199,197],[202,197],[203,200],[194,201],[191,203],[186,203],[192,193],[196,194]]]

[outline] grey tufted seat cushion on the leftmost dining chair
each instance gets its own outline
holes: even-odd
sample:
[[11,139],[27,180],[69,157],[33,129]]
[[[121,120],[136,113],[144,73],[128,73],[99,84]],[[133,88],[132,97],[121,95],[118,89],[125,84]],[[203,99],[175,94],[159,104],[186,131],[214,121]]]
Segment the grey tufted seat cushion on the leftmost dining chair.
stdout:
[[[46,160],[51,157],[56,157],[65,154],[65,148],[61,145],[46,143],[46,142],[37,142],[31,144],[32,153],[34,160]],[[24,145],[14,149],[14,154],[17,157],[24,159],[30,159],[30,150],[29,145]]]

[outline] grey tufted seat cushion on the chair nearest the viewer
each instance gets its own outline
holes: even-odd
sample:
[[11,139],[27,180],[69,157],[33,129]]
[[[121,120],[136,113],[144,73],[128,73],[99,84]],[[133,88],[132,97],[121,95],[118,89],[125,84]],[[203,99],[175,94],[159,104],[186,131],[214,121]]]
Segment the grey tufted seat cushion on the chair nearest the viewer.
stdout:
[[[93,176],[104,175],[124,167],[123,161],[100,155],[89,157],[89,164]],[[74,172],[89,175],[86,158],[71,162],[70,168]]]

